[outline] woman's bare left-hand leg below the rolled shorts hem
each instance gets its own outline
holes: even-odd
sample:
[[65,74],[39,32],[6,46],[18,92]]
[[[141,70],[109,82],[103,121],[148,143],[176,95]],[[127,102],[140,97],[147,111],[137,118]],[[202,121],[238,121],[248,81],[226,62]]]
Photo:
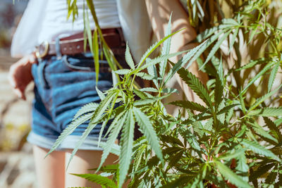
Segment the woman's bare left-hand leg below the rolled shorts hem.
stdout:
[[53,151],[44,158],[49,149],[33,146],[35,169],[40,188],[65,187],[65,152]]

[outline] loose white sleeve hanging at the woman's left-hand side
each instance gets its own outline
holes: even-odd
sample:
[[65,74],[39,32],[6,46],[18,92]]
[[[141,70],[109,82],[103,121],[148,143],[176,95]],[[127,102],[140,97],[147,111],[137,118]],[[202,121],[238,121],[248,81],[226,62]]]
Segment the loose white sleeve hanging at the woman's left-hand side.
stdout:
[[45,16],[47,0],[30,0],[18,28],[13,35],[11,56],[20,58],[30,54],[38,44],[38,35]]

